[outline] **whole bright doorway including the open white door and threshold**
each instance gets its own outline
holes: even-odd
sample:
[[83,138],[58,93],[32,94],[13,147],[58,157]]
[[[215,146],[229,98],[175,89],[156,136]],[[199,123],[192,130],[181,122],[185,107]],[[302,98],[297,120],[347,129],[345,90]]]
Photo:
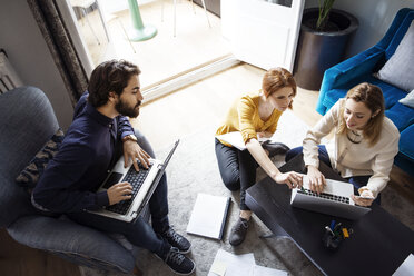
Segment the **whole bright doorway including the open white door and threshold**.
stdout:
[[189,0],[142,0],[139,18],[144,26],[154,26],[157,34],[139,42],[128,36],[134,18],[128,1],[67,0],[71,10],[73,2],[91,3],[77,14],[71,11],[75,34],[91,68],[108,59],[137,63],[146,99],[239,60],[263,69],[282,66],[292,70],[304,0],[226,0],[216,14],[205,13],[203,6]]

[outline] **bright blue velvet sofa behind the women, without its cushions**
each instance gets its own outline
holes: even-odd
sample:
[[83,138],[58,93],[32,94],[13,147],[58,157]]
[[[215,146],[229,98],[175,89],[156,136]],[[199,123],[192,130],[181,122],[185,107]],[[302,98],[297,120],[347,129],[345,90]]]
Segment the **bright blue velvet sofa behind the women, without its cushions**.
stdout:
[[325,115],[346,92],[361,82],[381,87],[385,98],[385,115],[401,132],[400,152],[395,165],[414,176],[414,109],[398,102],[407,92],[373,77],[393,56],[414,19],[413,9],[401,9],[383,39],[369,49],[329,68],[322,81],[316,111]]

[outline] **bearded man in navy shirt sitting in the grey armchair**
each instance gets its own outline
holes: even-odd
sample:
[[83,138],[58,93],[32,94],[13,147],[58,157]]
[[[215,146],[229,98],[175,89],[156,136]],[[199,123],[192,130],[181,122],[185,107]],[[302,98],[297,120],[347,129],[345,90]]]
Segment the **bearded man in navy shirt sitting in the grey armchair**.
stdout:
[[97,191],[121,155],[125,166],[132,161],[136,170],[137,159],[148,168],[149,158],[155,158],[148,140],[128,119],[139,115],[144,99],[139,73],[136,65],[125,60],[106,61],[92,71],[88,91],[76,106],[59,151],[33,190],[32,204],[39,209],[67,214],[79,224],[122,234],[135,246],[152,252],[175,273],[188,275],[195,264],[184,254],[191,245],[169,225],[165,175],[149,200],[152,226],[141,217],[126,223],[87,211],[131,198],[129,183]]

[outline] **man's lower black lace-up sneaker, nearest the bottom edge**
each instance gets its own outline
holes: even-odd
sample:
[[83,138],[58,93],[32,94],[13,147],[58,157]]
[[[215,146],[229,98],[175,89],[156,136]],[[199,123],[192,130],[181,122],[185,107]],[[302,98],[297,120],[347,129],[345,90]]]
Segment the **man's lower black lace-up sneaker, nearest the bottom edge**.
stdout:
[[179,253],[176,247],[171,247],[165,257],[158,254],[156,254],[156,256],[162,259],[176,274],[189,275],[196,268],[196,264],[190,258]]

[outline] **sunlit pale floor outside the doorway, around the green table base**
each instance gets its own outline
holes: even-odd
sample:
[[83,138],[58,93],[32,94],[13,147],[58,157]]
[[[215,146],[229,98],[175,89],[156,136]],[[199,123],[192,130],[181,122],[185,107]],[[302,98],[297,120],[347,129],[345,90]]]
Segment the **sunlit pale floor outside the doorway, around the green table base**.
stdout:
[[154,38],[139,42],[128,37],[132,21],[127,1],[87,0],[83,2],[95,3],[86,12],[73,6],[79,4],[77,2],[79,0],[69,1],[92,67],[108,59],[129,60],[140,67],[144,88],[230,53],[221,37],[220,18],[207,11],[207,21],[204,9],[190,1],[178,0],[176,4],[172,0],[139,1],[144,26],[157,29]]

